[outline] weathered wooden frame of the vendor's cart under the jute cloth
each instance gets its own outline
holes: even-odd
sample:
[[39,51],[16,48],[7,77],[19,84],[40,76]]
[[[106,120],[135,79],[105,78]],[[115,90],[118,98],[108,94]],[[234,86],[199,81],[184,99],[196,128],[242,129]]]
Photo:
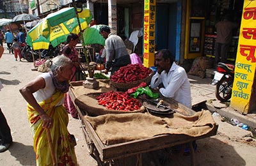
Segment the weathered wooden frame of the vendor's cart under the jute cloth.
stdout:
[[[81,82],[80,82],[81,83]],[[76,82],[76,86],[79,85]],[[81,84],[80,84],[81,86]],[[74,102],[76,99],[76,94],[70,88],[70,96]],[[179,103],[175,102],[172,99],[166,98],[166,101],[172,102],[173,104],[179,107],[179,112],[181,114],[186,114],[191,116],[195,114],[195,112],[184,105],[180,105]],[[99,136],[93,130],[92,125],[86,121],[84,116],[86,115],[86,110],[82,110],[81,108],[77,107],[77,111],[79,112],[79,117],[81,119],[81,125],[83,128],[83,132],[86,138],[86,143],[89,149],[90,155],[97,160],[99,165],[118,165],[115,164],[116,160],[122,160],[128,156],[137,156],[137,163],[138,165],[142,165],[141,161],[141,154],[147,153],[150,151],[155,151],[157,149],[164,149],[166,147],[172,147],[176,145],[182,145],[185,143],[189,144],[189,151],[191,155],[191,165],[195,165],[195,150],[193,148],[192,142],[198,139],[204,139],[206,137],[211,137],[212,135],[216,135],[218,126],[214,126],[214,130],[207,133],[206,135],[202,135],[200,137],[190,137],[188,135],[158,135],[155,137],[151,137],[148,139],[140,139],[140,140],[133,140],[129,142],[124,142],[121,144],[114,144],[110,146],[106,146],[102,143],[99,139]],[[183,110],[183,112],[181,111]]]

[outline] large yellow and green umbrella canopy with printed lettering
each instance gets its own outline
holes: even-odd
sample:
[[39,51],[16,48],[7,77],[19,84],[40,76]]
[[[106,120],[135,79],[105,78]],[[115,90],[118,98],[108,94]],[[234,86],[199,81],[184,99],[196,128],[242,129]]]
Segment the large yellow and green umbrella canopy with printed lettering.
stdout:
[[[77,9],[81,11],[81,9]],[[78,12],[82,30],[88,27],[92,20],[92,13],[88,9]],[[70,33],[79,34],[79,25],[76,18],[75,8],[63,8],[47,15],[27,35],[26,42],[34,50],[48,49],[49,44],[56,47],[67,40]]]

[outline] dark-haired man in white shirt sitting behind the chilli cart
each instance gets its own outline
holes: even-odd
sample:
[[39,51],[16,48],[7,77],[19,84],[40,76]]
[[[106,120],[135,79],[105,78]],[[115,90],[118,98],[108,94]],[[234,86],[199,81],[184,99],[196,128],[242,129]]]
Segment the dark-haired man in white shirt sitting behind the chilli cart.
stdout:
[[157,67],[152,77],[151,88],[159,89],[166,98],[173,98],[191,109],[190,83],[186,71],[175,63],[175,57],[170,50],[163,49],[155,55]]

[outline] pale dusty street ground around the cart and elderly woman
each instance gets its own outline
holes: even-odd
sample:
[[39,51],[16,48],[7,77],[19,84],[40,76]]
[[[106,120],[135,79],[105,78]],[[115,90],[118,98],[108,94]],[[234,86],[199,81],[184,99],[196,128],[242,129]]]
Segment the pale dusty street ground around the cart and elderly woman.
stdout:
[[[31,71],[33,68],[33,63],[28,63],[26,60],[23,62],[15,61],[13,54],[8,54],[7,50],[0,59],[0,80],[4,86],[0,91],[0,107],[8,120],[13,136],[13,144],[10,149],[0,153],[0,165],[35,165],[35,153],[26,114],[26,102],[19,93],[20,87],[40,75],[40,72]],[[208,90],[207,85],[204,84],[202,87],[204,91]],[[191,88],[193,87],[191,86]],[[207,92],[205,93],[207,94]],[[196,99],[193,98],[193,100]],[[97,162],[87,153],[79,120],[69,117],[68,130],[77,139],[76,155],[79,165],[97,165]],[[219,124],[218,135],[197,141],[196,165],[255,165],[255,140],[246,142],[245,139],[250,137],[244,137],[244,135],[250,135],[250,132],[223,123],[218,116],[214,119]],[[188,165],[190,162],[189,156],[172,157],[170,160],[172,165]]]

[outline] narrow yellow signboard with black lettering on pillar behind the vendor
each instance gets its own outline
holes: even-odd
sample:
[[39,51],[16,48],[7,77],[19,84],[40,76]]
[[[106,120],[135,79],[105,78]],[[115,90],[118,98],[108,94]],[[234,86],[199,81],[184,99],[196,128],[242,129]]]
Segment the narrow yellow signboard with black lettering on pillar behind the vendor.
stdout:
[[154,66],[156,0],[144,0],[143,65]]

